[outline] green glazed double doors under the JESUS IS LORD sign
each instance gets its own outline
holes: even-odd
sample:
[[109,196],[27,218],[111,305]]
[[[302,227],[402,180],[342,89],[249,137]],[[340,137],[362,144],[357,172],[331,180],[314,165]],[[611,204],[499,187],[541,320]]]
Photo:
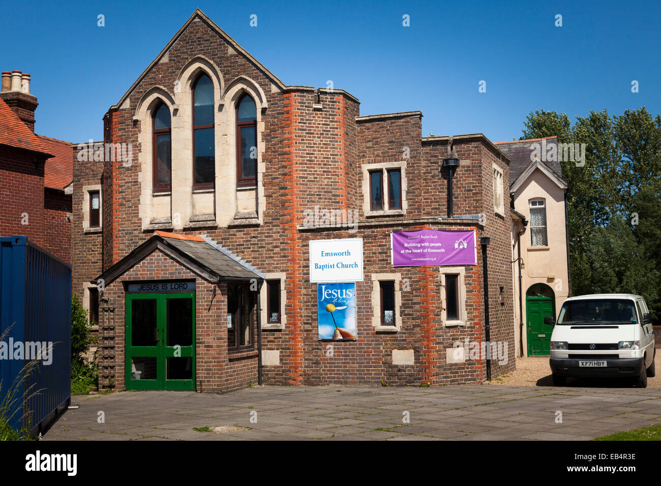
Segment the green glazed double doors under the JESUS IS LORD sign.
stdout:
[[195,389],[195,294],[126,295],[126,388]]

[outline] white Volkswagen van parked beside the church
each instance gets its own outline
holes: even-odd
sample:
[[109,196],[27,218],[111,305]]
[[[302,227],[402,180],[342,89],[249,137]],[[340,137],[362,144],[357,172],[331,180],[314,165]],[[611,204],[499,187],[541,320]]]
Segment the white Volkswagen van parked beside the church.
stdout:
[[553,325],[553,384],[566,377],[632,378],[638,387],[654,376],[652,316],[641,296],[596,294],[571,297]]

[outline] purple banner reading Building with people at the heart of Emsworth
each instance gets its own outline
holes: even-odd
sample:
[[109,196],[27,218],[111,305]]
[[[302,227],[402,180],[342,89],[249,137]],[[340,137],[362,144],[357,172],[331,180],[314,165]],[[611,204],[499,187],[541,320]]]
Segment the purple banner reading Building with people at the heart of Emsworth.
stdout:
[[393,231],[390,236],[393,266],[475,265],[475,230]]

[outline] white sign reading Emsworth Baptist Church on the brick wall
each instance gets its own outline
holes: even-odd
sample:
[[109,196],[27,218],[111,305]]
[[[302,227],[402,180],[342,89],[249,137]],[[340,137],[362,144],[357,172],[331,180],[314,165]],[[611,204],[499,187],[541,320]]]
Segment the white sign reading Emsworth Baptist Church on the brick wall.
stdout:
[[362,282],[363,239],[310,241],[310,282]]

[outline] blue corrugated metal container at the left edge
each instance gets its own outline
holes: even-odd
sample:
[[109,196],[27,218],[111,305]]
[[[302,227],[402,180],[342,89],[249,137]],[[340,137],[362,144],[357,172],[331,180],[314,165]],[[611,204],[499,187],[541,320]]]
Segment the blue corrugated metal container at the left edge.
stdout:
[[[71,266],[24,236],[0,237],[0,335],[7,329],[0,403],[24,378],[10,423],[36,434],[71,401]],[[23,346],[22,359],[17,343]],[[35,350],[38,359],[25,374]]]

